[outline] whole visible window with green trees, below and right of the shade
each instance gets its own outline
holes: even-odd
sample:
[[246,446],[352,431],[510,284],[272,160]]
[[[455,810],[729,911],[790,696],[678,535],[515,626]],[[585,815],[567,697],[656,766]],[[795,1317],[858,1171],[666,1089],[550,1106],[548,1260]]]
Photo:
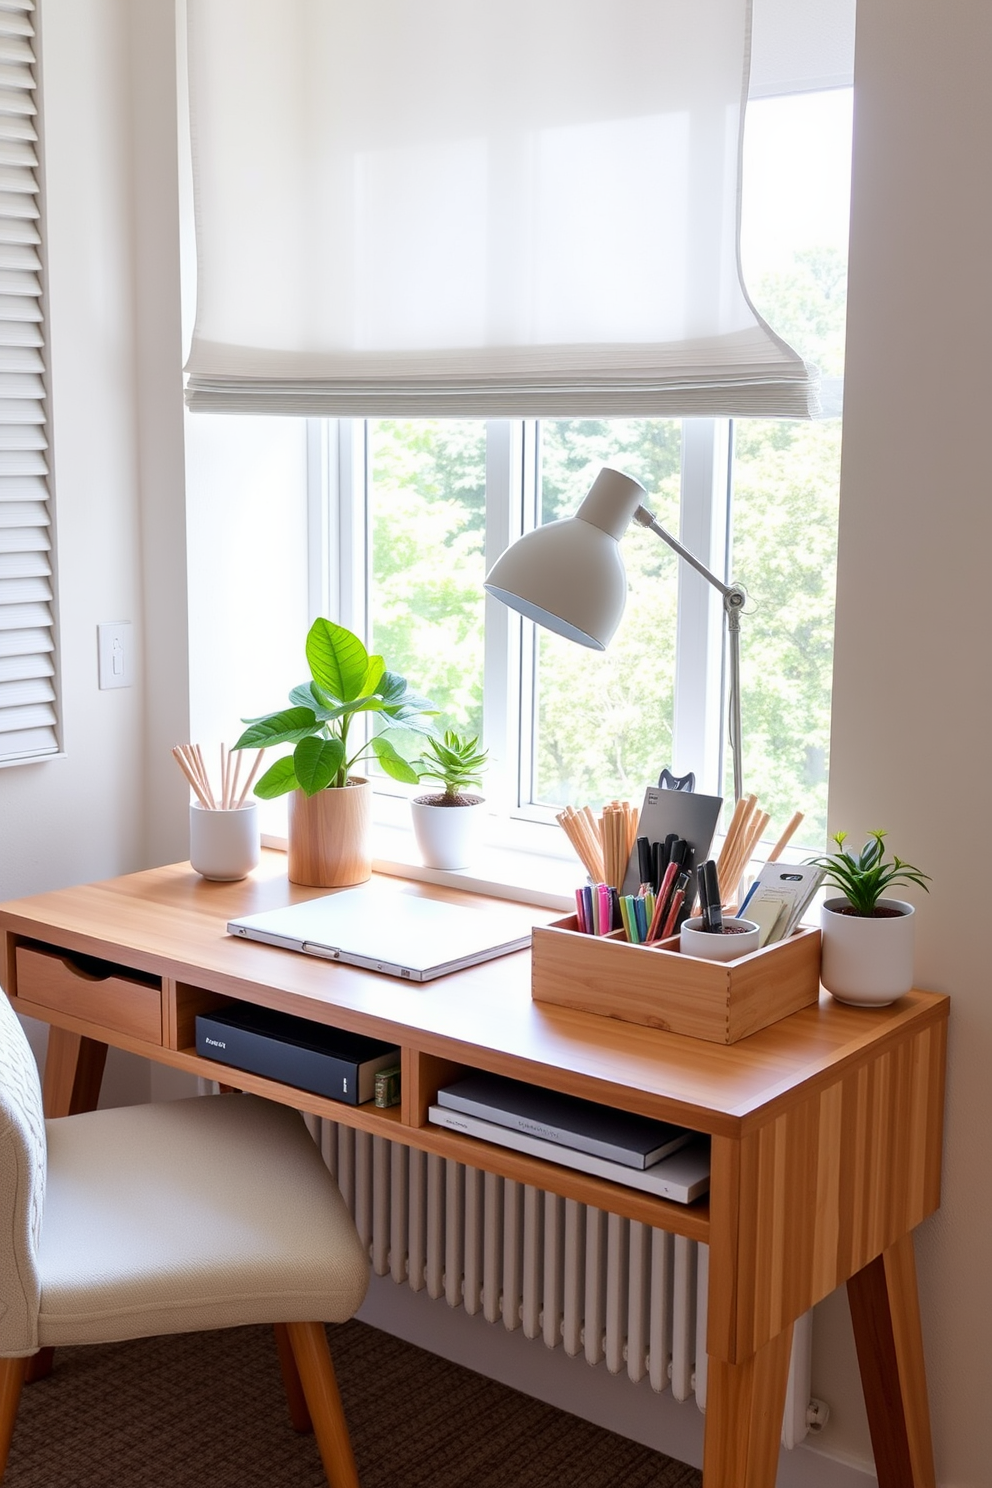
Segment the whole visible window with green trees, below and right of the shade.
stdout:
[[[745,789],[772,830],[802,809],[802,845],[825,838],[849,92],[767,98],[753,116],[745,159],[761,210],[744,223],[748,284],[772,326],[821,366],[834,417],[339,426],[352,534],[341,618],[436,701],[440,726],[483,735],[486,795],[507,818],[638,801],[663,765],[732,793],[720,601],[654,536],[631,527],[623,539],[631,592],[602,655],[483,595],[503,548],[573,512],[613,464],[641,481],[665,527],[747,588]],[[817,167],[808,190],[803,159]]]

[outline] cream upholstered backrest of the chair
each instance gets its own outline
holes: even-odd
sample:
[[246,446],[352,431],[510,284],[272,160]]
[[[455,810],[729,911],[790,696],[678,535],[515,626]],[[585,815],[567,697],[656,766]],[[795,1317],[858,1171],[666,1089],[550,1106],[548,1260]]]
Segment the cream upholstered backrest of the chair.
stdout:
[[0,1357],[37,1348],[46,1167],[37,1065],[0,988]]

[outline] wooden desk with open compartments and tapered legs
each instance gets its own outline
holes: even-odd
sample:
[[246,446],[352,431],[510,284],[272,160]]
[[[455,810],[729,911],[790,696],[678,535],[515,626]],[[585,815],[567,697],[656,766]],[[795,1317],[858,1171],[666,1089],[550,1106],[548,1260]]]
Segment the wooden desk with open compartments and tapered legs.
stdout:
[[[940,1199],[946,997],[851,1009],[824,994],[727,1048],[532,1003],[526,952],[412,985],[229,937],[232,915],[320,893],[289,885],[281,854],[263,859],[241,884],[177,865],[0,906],[6,991],[52,1025],[49,1115],[95,1104],[107,1045],[229,1082],[195,1054],[193,1021],[231,998],[388,1039],[403,1052],[393,1110],[251,1074],[238,1086],[706,1241],[706,1488],[775,1482],[793,1323],[846,1283],[879,1484],[933,1488],[912,1229]],[[117,970],[80,976],[52,952]],[[439,1083],[464,1068],[709,1132],[709,1201],[669,1204],[427,1125]]]

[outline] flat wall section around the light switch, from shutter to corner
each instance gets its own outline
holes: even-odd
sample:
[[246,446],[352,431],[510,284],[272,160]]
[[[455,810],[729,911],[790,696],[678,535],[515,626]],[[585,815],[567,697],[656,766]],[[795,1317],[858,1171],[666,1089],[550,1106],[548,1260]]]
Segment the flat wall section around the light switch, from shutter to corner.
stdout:
[[48,0],[51,451],[65,757],[0,771],[0,896],[137,868],[143,848],[143,670],[97,690],[97,623],[143,635],[129,92],[120,6]]

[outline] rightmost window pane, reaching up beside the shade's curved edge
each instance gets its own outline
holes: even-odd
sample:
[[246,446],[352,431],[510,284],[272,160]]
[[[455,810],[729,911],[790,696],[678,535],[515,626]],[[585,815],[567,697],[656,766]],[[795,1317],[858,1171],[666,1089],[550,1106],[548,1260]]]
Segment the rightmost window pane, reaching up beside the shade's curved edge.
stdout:
[[[851,89],[748,104],[741,253],[751,298],[824,376],[839,412],[851,199]],[[744,786],[796,845],[827,836],[840,418],[735,424],[735,579]]]

